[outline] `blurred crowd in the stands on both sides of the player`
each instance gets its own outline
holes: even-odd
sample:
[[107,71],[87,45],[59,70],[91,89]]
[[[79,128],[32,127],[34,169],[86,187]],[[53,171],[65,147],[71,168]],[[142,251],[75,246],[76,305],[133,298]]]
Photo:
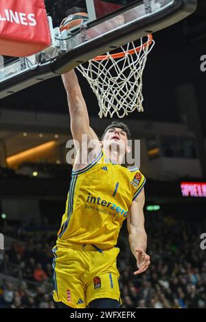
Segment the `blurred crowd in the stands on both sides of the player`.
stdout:
[[[137,269],[133,254],[128,251],[126,227],[119,238],[121,249],[117,266],[122,308],[206,308],[206,257],[200,247],[201,225],[175,220],[164,214],[146,214],[148,271],[134,275]],[[4,225],[4,233],[18,242],[6,249],[0,258],[0,270],[7,263],[21,268],[21,280],[0,282],[0,308],[57,308],[52,300],[52,247],[54,234],[38,234]],[[56,229],[57,230],[57,229]],[[5,272],[6,273],[6,272]]]

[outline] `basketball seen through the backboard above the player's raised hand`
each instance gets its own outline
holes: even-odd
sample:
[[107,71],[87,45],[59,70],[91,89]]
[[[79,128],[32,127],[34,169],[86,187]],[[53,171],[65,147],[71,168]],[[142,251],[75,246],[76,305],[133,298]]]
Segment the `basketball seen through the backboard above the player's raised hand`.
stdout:
[[63,30],[72,30],[75,27],[79,27],[82,23],[89,20],[89,16],[86,12],[78,12],[76,14],[70,14],[60,24],[60,32]]

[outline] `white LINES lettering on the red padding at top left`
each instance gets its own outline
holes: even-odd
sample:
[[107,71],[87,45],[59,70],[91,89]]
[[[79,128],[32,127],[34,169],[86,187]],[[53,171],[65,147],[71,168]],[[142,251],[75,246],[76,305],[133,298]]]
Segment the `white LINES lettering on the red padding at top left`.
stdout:
[[10,9],[4,9],[0,11],[0,23],[1,21],[8,21],[10,23],[17,23],[18,25],[30,25],[36,26],[35,14],[25,12],[16,12]]

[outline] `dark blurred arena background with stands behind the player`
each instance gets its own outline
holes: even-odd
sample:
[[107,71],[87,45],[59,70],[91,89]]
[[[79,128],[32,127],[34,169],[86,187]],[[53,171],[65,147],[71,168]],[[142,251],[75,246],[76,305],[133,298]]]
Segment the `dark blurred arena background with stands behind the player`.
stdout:
[[[54,27],[71,13],[71,2],[45,0]],[[84,1],[75,2],[84,9]],[[133,274],[124,223],[117,259],[122,308],[206,308],[205,0],[153,36],[144,112],[123,119],[141,140],[151,265]],[[98,117],[96,97],[77,74],[91,127],[101,136],[112,120]],[[52,247],[71,178],[69,124],[60,77],[0,100],[0,308],[57,308]]]

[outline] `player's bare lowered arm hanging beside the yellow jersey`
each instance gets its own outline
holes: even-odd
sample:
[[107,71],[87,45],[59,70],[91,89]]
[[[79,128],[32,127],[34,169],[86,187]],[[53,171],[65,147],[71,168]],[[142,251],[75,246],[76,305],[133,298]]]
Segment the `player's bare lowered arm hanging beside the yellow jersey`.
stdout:
[[147,234],[144,227],[144,188],[133,201],[130,215],[127,219],[130,249],[137,260],[138,271],[135,275],[143,273],[150,265],[150,256],[146,254]]

